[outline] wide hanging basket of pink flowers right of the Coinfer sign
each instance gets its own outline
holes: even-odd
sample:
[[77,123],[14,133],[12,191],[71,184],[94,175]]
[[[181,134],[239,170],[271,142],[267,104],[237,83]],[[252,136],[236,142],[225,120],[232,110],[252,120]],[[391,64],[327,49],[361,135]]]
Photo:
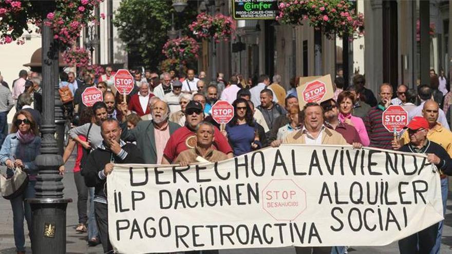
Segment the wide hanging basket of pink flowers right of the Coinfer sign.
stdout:
[[309,25],[322,32],[329,39],[348,34],[358,37],[364,34],[364,16],[356,13],[344,0],[281,0],[276,20],[281,24]]

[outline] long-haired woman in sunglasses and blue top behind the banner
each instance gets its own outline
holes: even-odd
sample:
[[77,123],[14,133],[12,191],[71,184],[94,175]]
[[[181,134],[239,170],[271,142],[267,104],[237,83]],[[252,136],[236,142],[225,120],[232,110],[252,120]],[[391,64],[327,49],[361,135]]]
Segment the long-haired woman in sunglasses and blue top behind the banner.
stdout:
[[223,134],[227,136],[234,150],[234,156],[261,148],[262,145],[259,142],[253,112],[247,101],[240,98],[235,100],[232,106],[234,107],[235,114],[232,120],[226,125]]

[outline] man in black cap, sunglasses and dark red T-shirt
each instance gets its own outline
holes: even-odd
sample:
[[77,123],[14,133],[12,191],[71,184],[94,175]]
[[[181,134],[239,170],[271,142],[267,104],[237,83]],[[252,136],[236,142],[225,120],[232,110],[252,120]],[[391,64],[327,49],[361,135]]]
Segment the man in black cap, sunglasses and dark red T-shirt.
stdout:
[[[168,140],[165,149],[163,150],[162,164],[171,164],[177,156],[187,149],[194,148],[196,145],[196,126],[204,119],[204,112],[201,103],[190,101],[185,108],[185,126],[176,130]],[[214,147],[227,154],[228,158],[233,157],[232,148],[228,140],[224,138],[223,134],[215,127],[214,133]]]

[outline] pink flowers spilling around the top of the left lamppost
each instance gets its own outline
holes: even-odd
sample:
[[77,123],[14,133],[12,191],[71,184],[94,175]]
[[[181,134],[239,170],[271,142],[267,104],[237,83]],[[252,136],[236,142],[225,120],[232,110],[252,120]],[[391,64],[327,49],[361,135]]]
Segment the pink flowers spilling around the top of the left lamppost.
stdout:
[[[46,15],[44,25],[53,30],[53,38],[63,47],[69,47],[78,37],[80,30],[90,22],[97,23],[98,18],[93,14],[103,0],[55,0],[55,11]],[[32,30],[29,24],[36,25],[35,32],[40,32],[43,23],[43,8],[48,8],[42,1],[0,1],[0,44],[16,41],[25,42],[23,33]],[[104,18],[105,15],[101,14]]]

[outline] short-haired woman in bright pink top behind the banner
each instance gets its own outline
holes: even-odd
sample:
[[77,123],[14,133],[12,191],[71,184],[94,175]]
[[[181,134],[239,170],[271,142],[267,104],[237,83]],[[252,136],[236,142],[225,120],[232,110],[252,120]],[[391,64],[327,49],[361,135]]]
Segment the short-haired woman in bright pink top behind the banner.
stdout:
[[370,144],[370,140],[363,120],[351,114],[354,105],[353,93],[349,91],[341,92],[337,96],[337,105],[339,105],[339,120],[355,127],[356,131],[360,135],[363,146],[368,146]]

